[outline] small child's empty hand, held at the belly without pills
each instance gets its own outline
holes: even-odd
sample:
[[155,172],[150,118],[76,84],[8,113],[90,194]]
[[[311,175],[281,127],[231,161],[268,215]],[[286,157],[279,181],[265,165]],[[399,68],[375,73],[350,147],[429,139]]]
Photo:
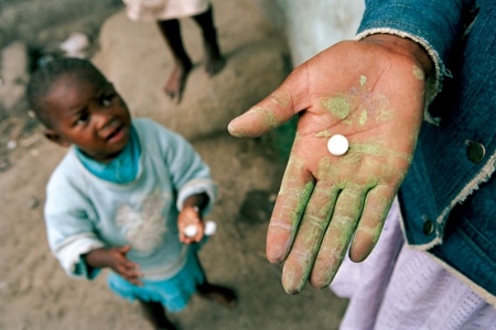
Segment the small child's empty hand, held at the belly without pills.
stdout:
[[86,262],[93,267],[109,267],[130,283],[141,285],[139,265],[126,257],[129,250],[129,245],[97,249],[86,254]]

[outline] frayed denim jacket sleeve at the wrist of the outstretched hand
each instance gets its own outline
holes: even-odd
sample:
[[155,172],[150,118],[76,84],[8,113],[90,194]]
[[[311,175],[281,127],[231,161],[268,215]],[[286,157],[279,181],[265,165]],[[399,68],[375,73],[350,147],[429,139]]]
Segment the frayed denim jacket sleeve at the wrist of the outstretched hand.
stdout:
[[[421,44],[435,65],[435,79],[428,81],[428,101],[441,90],[450,52],[466,28],[464,13],[473,0],[366,0],[356,40],[375,33],[409,37]],[[434,119],[429,117],[431,122]]]

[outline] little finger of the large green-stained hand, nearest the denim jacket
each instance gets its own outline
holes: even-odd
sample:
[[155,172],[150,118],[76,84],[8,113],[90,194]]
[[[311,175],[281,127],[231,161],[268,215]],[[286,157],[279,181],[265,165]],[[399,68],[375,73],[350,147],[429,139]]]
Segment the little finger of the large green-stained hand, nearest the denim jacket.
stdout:
[[373,251],[379,240],[396,193],[396,188],[386,185],[377,186],[368,193],[364,212],[349,249],[352,261],[363,262]]

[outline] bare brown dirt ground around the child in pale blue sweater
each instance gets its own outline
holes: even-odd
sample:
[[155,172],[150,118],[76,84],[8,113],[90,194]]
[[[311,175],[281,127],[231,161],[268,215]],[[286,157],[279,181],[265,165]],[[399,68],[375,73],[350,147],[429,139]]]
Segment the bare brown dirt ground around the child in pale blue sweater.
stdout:
[[[268,219],[284,168],[273,147],[227,132],[193,145],[219,187],[207,217],[217,233],[201,260],[209,280],[233,287],[239,302],[226,309],[194,297],[171,319],[180,329],[337,329],[346,300],[310,286],[285,294],[281,267],[266,260]],[[107,289],[106,272],[93,282],[69,279],[48,251],[44,189],[64,152],[30,127],[0,170],[0,329],[151,329],[136,304]]]

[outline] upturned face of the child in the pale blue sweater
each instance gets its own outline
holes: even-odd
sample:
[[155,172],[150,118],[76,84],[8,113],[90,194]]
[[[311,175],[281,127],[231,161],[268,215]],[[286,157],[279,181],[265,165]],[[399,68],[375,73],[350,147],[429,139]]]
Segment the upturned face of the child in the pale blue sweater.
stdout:
[[77,145],[88,156],[107,162],[129,141],[131,118],[114,86],[90,75],[61,76],[43,99],[53,128],[46,136],[68,146]]

